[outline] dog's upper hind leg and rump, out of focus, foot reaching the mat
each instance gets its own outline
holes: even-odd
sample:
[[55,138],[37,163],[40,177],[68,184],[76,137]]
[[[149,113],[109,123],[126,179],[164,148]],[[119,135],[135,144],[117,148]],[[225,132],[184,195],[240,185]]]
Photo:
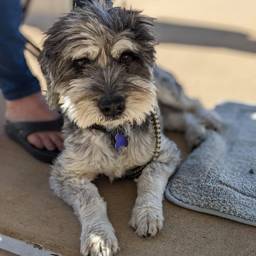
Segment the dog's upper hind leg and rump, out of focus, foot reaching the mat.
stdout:
[[205,127],[219,129],[221,125],[219,115],[215,113],[215,111],[205,109],[199,101],[188,98],[182,90],[182,87],[170,73],[156,67],[154,69],[154,80],[158,89],[157,99],[163,106],[189,112],[195,115],[196,118],[201,119],[201,123],[203,123]]

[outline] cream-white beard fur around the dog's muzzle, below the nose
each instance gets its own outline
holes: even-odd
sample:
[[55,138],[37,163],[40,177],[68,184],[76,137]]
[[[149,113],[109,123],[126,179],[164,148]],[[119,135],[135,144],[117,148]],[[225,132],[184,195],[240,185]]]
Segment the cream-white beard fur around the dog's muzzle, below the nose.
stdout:
[[65,92],[63,97],[64,104],[62,109],[68,114],[71,121],[79,127],[87,128],[93,124],[104,125],[106,127],[116,127],[123,123],[142,124],[147,115],[154,110],[156,106],[156,87],[140,77],[128,80],[132,84],[145,89],[146,93],[140,90],[132,91],[126,99],[126,110],[123,116],[116,120],[108,120],[101,113],[97,102],[86,97],[86,83],[90,83],[90,78],[75,79],[70,82],[70,90]]

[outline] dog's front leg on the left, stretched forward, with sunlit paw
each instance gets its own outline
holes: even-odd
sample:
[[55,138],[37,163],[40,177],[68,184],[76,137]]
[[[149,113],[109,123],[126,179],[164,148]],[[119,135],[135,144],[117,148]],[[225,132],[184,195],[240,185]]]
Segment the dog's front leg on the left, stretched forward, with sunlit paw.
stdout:
[[98,189],[89,179],[70,178],[65,173],[55,165],[50,185],[57,196],[74,208],[81,222],[81,253],[86,256],[114,255],[119,250],[118,242]]

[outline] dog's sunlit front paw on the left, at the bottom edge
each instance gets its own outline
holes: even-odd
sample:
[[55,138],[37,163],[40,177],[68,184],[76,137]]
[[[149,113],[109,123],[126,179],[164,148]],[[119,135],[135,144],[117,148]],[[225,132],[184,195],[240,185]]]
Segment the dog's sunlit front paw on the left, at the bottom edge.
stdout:
[[81,236],[81,253],[84,256],[112,256],[119,250],[116,236],[112,231],[92,231],[91,234]]

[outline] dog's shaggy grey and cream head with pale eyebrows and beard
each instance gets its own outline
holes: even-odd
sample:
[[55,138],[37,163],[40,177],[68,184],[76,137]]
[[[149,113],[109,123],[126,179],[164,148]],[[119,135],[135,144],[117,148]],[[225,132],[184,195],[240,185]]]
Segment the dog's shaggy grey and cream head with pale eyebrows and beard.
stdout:
[[79,127],[141,124],[156,105],[153,19],[84,1],[47,33],[39,63],[50,107]]

